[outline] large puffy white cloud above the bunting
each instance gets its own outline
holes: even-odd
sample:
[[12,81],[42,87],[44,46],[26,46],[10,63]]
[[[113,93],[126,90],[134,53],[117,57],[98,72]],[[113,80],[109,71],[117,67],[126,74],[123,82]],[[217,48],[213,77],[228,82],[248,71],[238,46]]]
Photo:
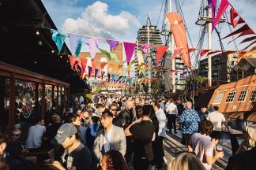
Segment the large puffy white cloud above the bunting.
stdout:
[[67,18],[62,30],[83,35],[94,35],[113,38],[130,31],[131,26],[140,27],[140,22],[129,12],[119,15],[108,14],[108,6],[104,2],[95,2],[87,6],[77,19]]

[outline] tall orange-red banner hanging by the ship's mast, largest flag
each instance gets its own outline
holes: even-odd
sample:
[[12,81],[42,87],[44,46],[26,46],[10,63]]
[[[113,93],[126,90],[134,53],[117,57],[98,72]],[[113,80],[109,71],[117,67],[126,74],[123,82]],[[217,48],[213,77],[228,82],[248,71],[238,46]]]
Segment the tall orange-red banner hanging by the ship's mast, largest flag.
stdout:
[[180,56],[183,60],[183,63],[190,69],[190,54],[188,53],[188,42],[186,39],[186,30],[183,23],[183,18],[179,13],[168,13],[167,15],[173,37],[175,39],[176,46],[183,47],[183,54]]

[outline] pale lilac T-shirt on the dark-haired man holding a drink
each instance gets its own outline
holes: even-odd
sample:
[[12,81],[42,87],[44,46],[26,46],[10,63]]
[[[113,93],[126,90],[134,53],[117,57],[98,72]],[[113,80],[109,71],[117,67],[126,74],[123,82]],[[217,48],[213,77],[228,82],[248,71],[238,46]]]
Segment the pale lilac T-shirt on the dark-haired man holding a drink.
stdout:
[[211,137],[208,135],[201,135],[200,133],[194,133],[191,136],[190,145],[196,156],[205,166],[205,169],[210,170],[212,168],[212,164],[207,164],[206,155],[213,157],[214,145],[211,141]]

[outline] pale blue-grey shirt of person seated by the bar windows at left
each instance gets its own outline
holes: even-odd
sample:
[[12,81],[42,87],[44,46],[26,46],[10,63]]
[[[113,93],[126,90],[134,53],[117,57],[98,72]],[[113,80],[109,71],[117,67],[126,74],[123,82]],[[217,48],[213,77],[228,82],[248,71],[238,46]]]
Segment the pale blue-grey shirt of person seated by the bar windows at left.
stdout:
[[46,128],[40,124],[36,124],[35,126],[29,127],[26,148],[39,148],[42,144],[42,137],[45,131]]

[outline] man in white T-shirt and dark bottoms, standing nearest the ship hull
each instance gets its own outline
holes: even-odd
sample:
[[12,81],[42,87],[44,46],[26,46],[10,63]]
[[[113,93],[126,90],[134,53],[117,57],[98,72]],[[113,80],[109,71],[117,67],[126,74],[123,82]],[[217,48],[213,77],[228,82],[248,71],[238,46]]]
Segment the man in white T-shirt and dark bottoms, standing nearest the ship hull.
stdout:
[[[228,128],[228,123],[222,113],[218,112],[219,107],[213,106],[213,112],[208,113],[206,119],[213,123],[213,133],[210,135],[217,144],[221,139],[221,126],[224,124]],[[228,128],[229,130],[229,128]]]

